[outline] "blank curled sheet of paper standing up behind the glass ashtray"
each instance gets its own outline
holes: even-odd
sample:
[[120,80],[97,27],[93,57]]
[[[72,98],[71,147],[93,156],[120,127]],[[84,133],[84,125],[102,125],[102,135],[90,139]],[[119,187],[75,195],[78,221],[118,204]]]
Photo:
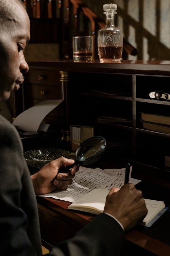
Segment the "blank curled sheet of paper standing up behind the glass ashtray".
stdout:
[[37,132],[45,116],[62,101],[63,100],[43,100],[19,114],[14,119],[13,125],[24,131]]

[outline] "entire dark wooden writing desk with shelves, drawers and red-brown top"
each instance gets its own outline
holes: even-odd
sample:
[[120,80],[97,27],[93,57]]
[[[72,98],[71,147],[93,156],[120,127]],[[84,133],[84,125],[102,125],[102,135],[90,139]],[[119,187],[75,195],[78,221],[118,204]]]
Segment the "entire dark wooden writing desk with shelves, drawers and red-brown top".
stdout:
[[[28,64],[30,70],[25,75],[23,91],[25,108],[36,103],[39,89],[38,100],[51,95],[62,99],[62,111],[50,116],[54,117],[54,123],[59,126],[56,120],[61,114],[64,131],[69,131],[70,125],[94,126],[95,135],[105,137],[111,144],[108,159],[131,162],[134,178],[155,184],[154,190],[151,185],[143,186],[143,197],[163,200],[170,207],[170,167],[165,166],[165,156],[170,155],[170,133],[145,129],[140,120],[141,112],[170,116],[170,101],[149,97],[151,91],[169,92],[170,61],[30,61]],[[99,116],[125,117],[130,123],[100,123]],[[115,150],[114,143],[124,141],[129,142],[128,148],[125,145]],[[108,161],[105,162],[108,165]],[[65,202],[41,197],[37,202],[41,235],[47,248],[72,237],[92,218],[68,211]],[[145,256],[169,255],[169,214],[167,212],[150,229],[136,228],[127,233],[127,254],[132,255],[133,246],[138,256],[144,253]]]

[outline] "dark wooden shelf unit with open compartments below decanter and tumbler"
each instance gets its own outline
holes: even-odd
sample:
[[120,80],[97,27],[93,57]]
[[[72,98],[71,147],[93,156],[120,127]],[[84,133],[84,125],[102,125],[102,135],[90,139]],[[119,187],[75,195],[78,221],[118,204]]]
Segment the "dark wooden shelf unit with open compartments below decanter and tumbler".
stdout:
[[[62,71],[56,80],[56,85],[60,80],[64,99],[62,129],[68,131],[70,125],[93,126],[94,135],[108,142],[109,168],[114,160],[123,164],[130,161],[133,177],[169,187],[170,168],[165,166],[165,155],[170,154],[170,134],[144,129],[140,119],[141,112],[170,116],[170,101],[149,97],[155,90],[169,93],[170,61],[30,61],[28,64],[30,70],[24,88],[31,84],[29,76],[36,70],[41,75],[45,71],[56,74]],[[120,122],[99,122],[99,116],[118,118]]]

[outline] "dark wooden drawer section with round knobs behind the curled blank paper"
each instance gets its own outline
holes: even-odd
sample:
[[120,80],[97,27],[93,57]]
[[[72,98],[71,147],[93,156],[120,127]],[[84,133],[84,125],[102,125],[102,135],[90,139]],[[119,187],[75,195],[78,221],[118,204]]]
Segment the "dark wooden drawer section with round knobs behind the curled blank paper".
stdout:
[[[23,87],[24,109],[50,99],[62,99],[62,88],[60,83],[60,73],[55,70],[40,69],[30,67],[25,74]],[[60,104],[51,111],[43,120],[50,124],[50,129],[62,129],[63,104]]]

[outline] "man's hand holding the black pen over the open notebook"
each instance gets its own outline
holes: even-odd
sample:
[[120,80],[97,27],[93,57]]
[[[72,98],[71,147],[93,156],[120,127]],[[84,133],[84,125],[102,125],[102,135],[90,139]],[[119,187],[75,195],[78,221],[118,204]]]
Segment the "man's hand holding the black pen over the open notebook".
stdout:
[[106,197],[104,212],[114,216],[128,231],[145,218],[148,213],[142,192],[132,183],[125,184],[121,189],[113,187]]

